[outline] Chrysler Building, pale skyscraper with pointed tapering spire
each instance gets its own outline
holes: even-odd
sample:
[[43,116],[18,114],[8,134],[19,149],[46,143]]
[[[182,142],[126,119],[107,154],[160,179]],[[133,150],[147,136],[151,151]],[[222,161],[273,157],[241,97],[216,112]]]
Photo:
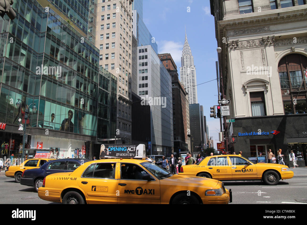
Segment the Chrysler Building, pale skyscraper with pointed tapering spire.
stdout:
[[194,59],[187,39],[187,32],[185,32],[185,44],[183,45],[181,67],[180,67],[180,81],[185,85],[188,92],[189,104],[197,102],[197,86],[196,86],[196,69],[194,66]]

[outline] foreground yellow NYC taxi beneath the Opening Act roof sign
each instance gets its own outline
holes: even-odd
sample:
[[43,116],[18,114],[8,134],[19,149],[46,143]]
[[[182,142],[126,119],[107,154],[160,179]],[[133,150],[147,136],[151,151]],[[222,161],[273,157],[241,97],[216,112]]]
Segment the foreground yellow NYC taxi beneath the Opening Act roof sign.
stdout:
[[173,175],[143,158],[95,160],[73,172],[48,175],[38,188],[38,197],[63,204],[228,204],[232,201],[231,190],[225,189],[220,181]]

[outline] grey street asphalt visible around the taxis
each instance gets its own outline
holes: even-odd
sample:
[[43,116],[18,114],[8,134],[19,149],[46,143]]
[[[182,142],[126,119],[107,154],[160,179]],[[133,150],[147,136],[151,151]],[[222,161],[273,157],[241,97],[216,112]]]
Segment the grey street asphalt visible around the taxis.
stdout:
[[[307,204],[296,199],[307,199],[307,167],[290,168],[294,177],[268,186],[261,181],[224,182],[232,190],[230,204]],[[15,183],[14,178],[0,172],[1,201],[6,204],[58,204],[40,199],[33,187]]]

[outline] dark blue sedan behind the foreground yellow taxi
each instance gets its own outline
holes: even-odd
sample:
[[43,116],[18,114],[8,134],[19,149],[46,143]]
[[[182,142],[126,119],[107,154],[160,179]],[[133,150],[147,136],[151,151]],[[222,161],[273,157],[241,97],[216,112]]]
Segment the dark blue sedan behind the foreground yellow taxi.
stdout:
[[81,164],[90,159],[56,159],[49,161],[37,169],[25,170],[22,173],[20,184],[34,187],[37,191],[43,185],[44,178],[49,174],[72,172]]

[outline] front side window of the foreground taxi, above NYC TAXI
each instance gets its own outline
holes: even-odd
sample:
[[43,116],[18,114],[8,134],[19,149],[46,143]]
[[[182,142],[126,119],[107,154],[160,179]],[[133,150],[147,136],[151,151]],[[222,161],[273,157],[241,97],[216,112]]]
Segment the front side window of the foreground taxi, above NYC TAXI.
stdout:
[[120,178],[128,180],[143,180],[143,175],[148,174],[142,167],[133,163],[121,163]]

